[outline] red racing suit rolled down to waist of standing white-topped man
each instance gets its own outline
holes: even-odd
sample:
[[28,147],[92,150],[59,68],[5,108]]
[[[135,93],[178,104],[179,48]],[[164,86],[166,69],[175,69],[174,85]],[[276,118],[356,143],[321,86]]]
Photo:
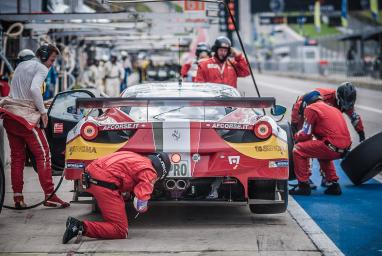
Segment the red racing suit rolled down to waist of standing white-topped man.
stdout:
[[49,144],[45,131],[38,127],[40,113],[32,101],[3,98],[0,117],[3,118],[11,149],[11,182],[15,196],[21,196],[24,185],[25,147],[32,152],[45,195],[53,193]]

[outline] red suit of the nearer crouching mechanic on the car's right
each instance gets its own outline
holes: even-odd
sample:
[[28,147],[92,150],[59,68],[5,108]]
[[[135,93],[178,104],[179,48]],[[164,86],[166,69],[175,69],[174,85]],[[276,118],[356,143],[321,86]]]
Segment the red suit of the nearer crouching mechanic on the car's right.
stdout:
[[327,181],[337,181],[338,176],[332,160],[341,158],[351,146],[350,133],[344,117],[337,108],[323,101],[308,105],[304,117],[303,128],[295,134],[296,144],[293,148],[297,180],[309,180],[309,159],[317,158]]

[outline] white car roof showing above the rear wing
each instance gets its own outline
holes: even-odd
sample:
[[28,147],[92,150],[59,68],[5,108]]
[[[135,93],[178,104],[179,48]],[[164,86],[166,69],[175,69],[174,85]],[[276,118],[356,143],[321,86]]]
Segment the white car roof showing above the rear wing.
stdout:
[[240,93],[225,84],[162,82],[131,86],[122,97],[240,97]]

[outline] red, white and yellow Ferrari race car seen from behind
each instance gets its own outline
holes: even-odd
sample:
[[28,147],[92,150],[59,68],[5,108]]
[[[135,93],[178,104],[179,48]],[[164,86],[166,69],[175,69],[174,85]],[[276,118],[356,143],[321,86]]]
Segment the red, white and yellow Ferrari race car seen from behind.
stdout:
[[[164,151],[172,169],[156,183],[152,200],[211,202],[206,199],[211,184],[220,179],[214,203],[248,203],[253,213],[280,213],[288,202],[289,149],[285,130],[263,114],[274,104],[272,97],[242,98],[222,84],[140,84],[121,98],[61,93],[51,106],[49,125],[56,139],[73,127],[66,150],[56,150],[65,152],[74,199],[81,196],[82,172],[94,159],[122,150]],[[279,108],[285,112],[281,106],[274,112]],[[83,117],[84,109],[90,111]]]

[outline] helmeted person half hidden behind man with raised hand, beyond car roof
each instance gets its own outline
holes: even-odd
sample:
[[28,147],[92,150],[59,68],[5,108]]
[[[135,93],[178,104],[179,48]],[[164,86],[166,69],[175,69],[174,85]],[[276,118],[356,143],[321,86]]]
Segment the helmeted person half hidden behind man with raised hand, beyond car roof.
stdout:
[[200,42],[196,46],[196,58],[185,63],[180,71],[182,77],[187,82],[195,82],[196,74],[198,72],[199,62],[211,57],[211,47],[206,42]]

